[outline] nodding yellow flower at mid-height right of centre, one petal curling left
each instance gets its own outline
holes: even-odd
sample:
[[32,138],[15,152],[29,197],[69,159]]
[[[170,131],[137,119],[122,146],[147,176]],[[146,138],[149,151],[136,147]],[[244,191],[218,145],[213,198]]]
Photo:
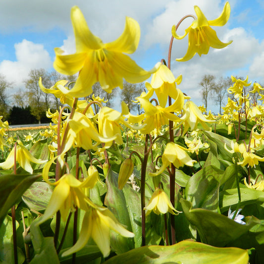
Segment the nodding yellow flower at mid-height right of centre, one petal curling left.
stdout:
[[162,173],[168,166],[171,166],[171,163],[173,163],[175,168],[179,168],[184,165],[193,166],[196,160],[191,159],[186,151],[188,151],[186,148],[183,148],[173,142],[169,142],[166,145],[161,158],[162,166],[158,168],[157,172],[150,173],[150,175],[157,176],[158,174]]

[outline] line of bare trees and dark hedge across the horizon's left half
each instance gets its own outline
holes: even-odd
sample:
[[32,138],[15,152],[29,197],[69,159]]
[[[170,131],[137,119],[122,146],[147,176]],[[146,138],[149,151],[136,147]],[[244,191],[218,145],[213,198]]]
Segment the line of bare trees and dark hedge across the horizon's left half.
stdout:
[[[45,88],[51,88],[59,80],[76,81],[76,76],[64,76],[56,71],[48,72],[43,68],[32,69],[28,77],[23,81],[25,89],[10,95],[13,83],[8,82],[6,77],[0,74],[0,116],[2,121],[8,120],[10,124],[27,124],[50,122],[46,117],[48,109],[55,111],[61,106],[58,98],[52,94],[44,93],[39,87],[39,78]],[[138,104],[133,103],[135,97],[140,96],[144,91],[144,83],[130,84],[124,81],[123,89],[118,94],[118,89],[113,89],[112,93],[106,93],[100,83],[93,85],[93,94],[104,98],[105,106],[112,107],[116,101],[124,101],[130,111],[140,112]],[[91,95],[92,96],[92,95]],[[118,98],[117,98],[118,97]]]

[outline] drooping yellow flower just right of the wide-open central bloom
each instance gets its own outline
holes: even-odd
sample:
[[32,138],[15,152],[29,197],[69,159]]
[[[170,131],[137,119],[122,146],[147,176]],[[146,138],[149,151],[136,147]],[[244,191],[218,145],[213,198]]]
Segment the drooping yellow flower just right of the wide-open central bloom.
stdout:
[[187,101],[183,106],[183,116],[180,118],[184,123],[183,135],[188,131],[196,130],[198,124],[200,123],[205,130],[210,130],[207,123],[214,123],[214,120],[208,120],[200,111],[198,106],[196,106],[192,101]]

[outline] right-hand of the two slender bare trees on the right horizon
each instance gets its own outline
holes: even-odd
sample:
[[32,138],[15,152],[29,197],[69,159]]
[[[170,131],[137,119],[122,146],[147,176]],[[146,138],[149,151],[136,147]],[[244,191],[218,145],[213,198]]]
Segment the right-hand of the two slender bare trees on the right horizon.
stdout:
[[219,113],[221,114],[223,100],[228,96],[227,89],[232,86],[230,77],[220,77],[213,87],[213,98],[219,103]]

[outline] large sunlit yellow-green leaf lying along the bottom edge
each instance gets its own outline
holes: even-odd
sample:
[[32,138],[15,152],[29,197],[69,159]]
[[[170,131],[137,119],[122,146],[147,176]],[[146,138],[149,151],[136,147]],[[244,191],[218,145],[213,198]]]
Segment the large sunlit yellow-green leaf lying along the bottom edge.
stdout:
[[248,251],[238,248],[216,248],[193,241],[172,246],[145,246],[115,256],[105,264],[248,264]]

